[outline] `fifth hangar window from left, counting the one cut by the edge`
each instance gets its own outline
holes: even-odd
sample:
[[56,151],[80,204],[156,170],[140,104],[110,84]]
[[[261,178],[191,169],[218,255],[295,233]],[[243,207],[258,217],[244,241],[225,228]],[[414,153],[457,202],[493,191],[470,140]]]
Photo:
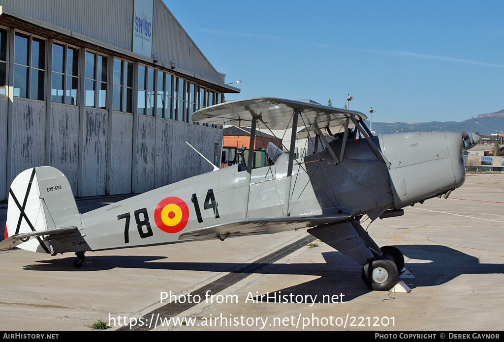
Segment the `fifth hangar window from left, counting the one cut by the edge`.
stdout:
[[133,63],[114,58],[114,111],[133,113]]

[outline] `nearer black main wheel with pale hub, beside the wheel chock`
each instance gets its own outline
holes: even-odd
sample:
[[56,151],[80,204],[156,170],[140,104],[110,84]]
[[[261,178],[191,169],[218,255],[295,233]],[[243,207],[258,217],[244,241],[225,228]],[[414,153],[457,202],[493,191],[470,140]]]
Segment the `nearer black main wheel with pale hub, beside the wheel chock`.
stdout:
[[399,272],[389,259],[374,259],[362,268],[362,280],[374,291],[389,291],[397,284]]

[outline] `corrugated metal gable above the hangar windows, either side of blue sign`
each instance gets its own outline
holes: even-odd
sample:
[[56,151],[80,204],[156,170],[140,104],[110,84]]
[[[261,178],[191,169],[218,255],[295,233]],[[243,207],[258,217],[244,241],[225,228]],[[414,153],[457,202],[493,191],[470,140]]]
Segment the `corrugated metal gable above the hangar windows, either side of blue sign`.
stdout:
[[[166,6],[153,2],[152,53],[158,53],[158,60],[174,59],[179,68],[224,82]],[[132,51],[133,0],[3,0],[0,5]]]

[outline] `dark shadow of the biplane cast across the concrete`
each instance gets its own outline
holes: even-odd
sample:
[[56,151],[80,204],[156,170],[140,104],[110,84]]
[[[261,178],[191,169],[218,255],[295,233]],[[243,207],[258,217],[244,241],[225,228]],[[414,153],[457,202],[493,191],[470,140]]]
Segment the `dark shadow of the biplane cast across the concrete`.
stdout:
[[[462,253],[456,249],[440,245],[400,245],[406,259],[405,267],[415,276],[415,279],[404,279],[410,287],[435,286],[444,284],[463,274],[502,274],[504,264],[480,264],[472,255]],[[105,255],[86,256],[84,265],[80,269],[73,267],[73,258],[62,258],[38,261],[42,264],[28,265],[24,270],[29,271],[71,271],[92,272],[111,270],[114,268],[174,270],[174,271],[202,271],[219,273],[243,274],[272,274],[272,275],[305,275],[319,278],[298,285],[283,288],[269,295],[318,295],[332,297],[344,294],[343,300],[350,301],[369,292],[361,279],[362,267],[345,257],[338,251],[322,253],[326,263],[304,264],[237,264],[237,263],[179,263],[157,262],[166,259],[160,256],[119,256]],[[408,262],[408,258],[411,259]],[[259,293],[262,295],[262,293]],[[327,297],[326,297],[327,298]],[[336,297],[335,297],[336,298]],[[338,297],[339,298],[339,297]],[[255,298],[258,299],[258,298]],[[316,300],[319,302],[320,300]],[[267,300],[263,298],[263,302]],[[309,300],[308,300],[309,302]],[[305,303],[305,301],[300,301]],[[311,302],[309,302],[311,303]]]

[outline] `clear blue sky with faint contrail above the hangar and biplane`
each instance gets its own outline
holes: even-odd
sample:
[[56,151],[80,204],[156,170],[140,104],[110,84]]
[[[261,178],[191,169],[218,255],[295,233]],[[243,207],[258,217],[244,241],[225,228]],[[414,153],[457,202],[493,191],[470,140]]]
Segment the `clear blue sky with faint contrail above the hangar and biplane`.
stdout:
[[502,1],[164,0],[241,93],[376,109],[377,122],[504,109]]

